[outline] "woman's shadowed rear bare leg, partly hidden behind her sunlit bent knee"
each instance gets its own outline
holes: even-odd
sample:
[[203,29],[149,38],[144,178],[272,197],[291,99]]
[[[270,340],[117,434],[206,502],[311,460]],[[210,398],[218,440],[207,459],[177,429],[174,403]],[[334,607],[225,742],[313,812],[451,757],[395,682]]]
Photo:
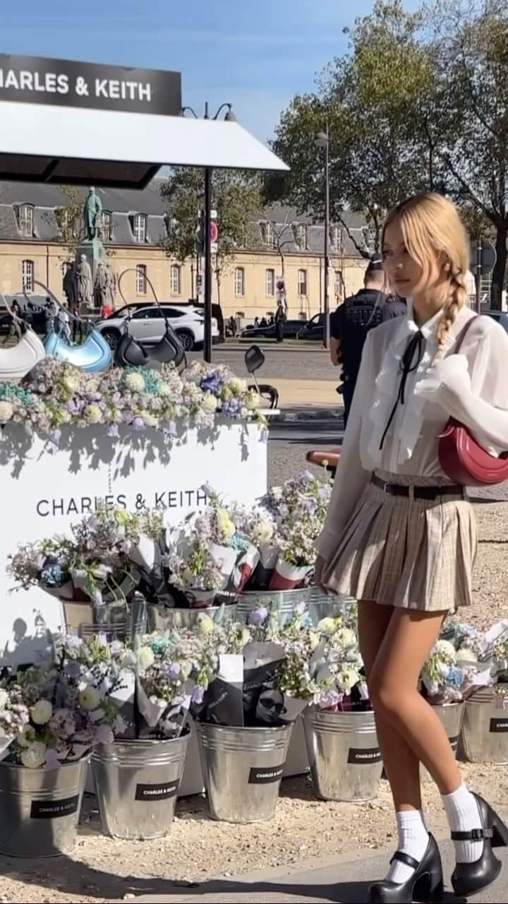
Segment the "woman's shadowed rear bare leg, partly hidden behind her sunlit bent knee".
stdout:
[[[372,684],[374,663],[389,629],[393,612],[392,607],[379,606],[372,600],[362,599],[358,602],[360,652],[369,688]],[[374,710],[376,710],[375,707]],[[398,730],[394,730],[390,720],[384,717],[382,711],[375,711],[375,717],[382,761],[390,782],[395,809],[398,811],[420,810],[419,758],[409,747],[403,735]],[[397,796],[394,788],[397,789]]]

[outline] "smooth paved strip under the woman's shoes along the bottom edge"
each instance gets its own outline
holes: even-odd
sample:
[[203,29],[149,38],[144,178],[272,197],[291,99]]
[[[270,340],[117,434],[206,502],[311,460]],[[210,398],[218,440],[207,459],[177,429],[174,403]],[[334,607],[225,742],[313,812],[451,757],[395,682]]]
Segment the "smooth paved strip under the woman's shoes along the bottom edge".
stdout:
[[[440,844],[443,855],[445,877],[450,875],[454,867],[453,847],[450,842]],[[500,879],[491,889],[485,890],[475,897],[477,904],[508,904],[508,864],[504,852],[501,854],[504,871]],[[212,880],[193,889],[180,893],[172,889],[163,896],[146,895],[138,901],[146,904],[162,904],[172,901],[173,904],[363,904],[368,898],[370,882],[386,872],[388,856],[372,856],[371,851],[359,851],[354,857],[337,857],[334,864],[302,864],[293,871],[267,870],[258,874],[239,877],[237,879]],[[458,904],[453,892],[445,891],[445,904]]]

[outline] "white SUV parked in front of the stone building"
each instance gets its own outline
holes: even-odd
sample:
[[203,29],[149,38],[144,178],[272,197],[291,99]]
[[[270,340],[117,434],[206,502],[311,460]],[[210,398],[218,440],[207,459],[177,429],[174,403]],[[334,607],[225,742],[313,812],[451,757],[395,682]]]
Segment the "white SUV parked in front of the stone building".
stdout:
[[[164,303],[160,308],[156,305],[126,305],[105,320],[99,320],[96,328],[103,334],[112,349],[117,347],[126,325],[128,332],[138,342],[152,345],[160,342],[165,334],[165,318],[162,311],[183,344],[185,352],[190,352],[195,345],[203,342],[202,310],[192,306],[179,307]],[[212,318],[212,338],[218,335],[217,321]]]

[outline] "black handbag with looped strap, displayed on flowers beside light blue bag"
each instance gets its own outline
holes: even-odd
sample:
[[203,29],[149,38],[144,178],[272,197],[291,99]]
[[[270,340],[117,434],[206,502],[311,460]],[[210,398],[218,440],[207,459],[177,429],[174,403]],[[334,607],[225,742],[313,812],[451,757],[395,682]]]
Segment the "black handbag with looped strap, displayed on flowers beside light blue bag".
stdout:
[[124,302],[124,305],[127,306],[127,320],[124,324],[123,333],[115,350],[115,363],[118,365],[118,367],[151,367],[153,369],[159,368],[162,364],[171,363],[174,363],[175,367],[179,367],[180,364],[183,363],[183,366],[186,367],[187,359],[185,357],[183,344],[180,342],[180,339],[175,334],[173,327],[170,325],[169,320],[164,313],[164,308],[160,306],[158,298],[155,294],[155,288],[153,287],[148,277],[145,278],[148,286],[152,290],[155,305],[159,308],[159,311],[161,312],[161,315],[165,320],[165,334],[160,342],[146,348],[145,345],[138,342],[128,332],[128,325],[129,321],[131,320],[131,316],[127,300],[124,297],[121,289],[122,278],[125,277],[126,273],[136,273],[136,270],[134,268],[128,268],[127,270],[124,270],[118,278],[118,292],[122,301]]

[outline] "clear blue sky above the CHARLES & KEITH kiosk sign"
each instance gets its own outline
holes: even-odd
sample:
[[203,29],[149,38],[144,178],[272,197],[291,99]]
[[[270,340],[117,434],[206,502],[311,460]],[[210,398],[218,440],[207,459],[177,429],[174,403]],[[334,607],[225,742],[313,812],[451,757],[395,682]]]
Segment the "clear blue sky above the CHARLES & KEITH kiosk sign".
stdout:
[[[231,102],[241,125],[273,135],[296,92],[344,52],[343,26],[373,0],[21,0],[2,11],[0,52],[111,62],[183,75],[183,103]],[[406,0],[415,8],[418,0]],[[4,7],[7,6],[4,0]],[[213,112],[213,110],[212,110]]]

